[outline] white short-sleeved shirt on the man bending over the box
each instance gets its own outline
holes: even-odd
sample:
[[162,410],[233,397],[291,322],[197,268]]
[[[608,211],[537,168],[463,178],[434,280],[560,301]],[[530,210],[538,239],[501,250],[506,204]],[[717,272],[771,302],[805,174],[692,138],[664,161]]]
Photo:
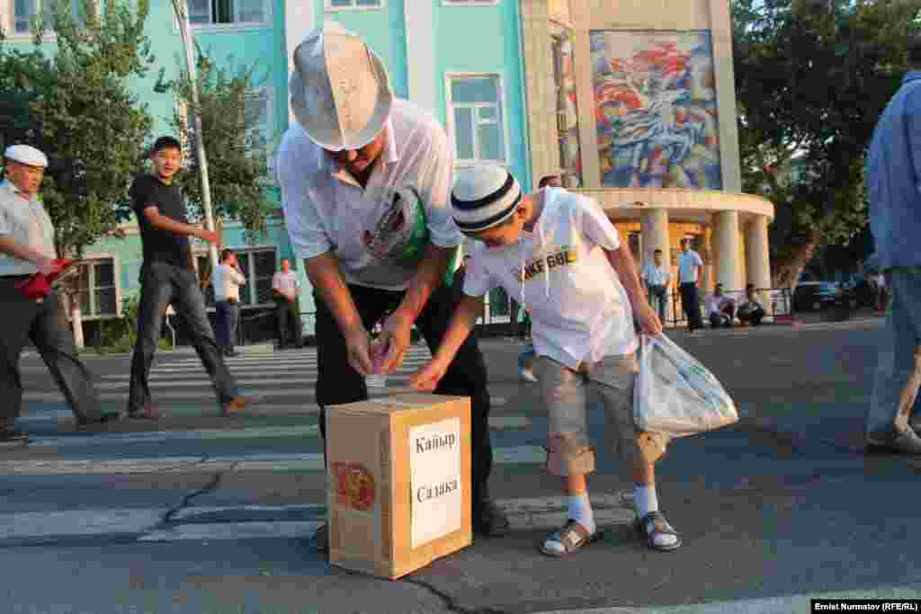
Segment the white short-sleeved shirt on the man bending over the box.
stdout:
[[389,137],[362,189],[299,125],[278,148],[278,182],[291,245],[298,258],[332,251],[349,284],[404,290],[414,268],[374,256],[362,234],[391,205],[392,193],[412,186],[422,198],[429,240],[441,248],[461,244],[449,210],[453,167],[448,136],[434,116],[397,98],[386,124]]

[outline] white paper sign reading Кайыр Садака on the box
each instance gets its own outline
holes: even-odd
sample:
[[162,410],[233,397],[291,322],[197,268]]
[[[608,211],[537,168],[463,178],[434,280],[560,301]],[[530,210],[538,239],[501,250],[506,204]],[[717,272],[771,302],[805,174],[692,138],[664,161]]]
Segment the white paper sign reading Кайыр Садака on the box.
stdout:
[[413,548],[418,548],[461,528],[461,421],[411,428],[409,446]]

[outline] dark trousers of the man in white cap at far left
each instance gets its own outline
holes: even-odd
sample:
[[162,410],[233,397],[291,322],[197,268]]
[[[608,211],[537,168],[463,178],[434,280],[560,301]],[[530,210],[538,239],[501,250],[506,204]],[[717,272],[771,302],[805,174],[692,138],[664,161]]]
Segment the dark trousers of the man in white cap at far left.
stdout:
[[22,411],[19,356],[31,340],[48,365],[64,399],[78,419],[99,420],[99,396],[92,375],[76,354],[57,293],[41,303],[29,301],[16,288],[19,277],[0,277],[0,427],[11,427]]

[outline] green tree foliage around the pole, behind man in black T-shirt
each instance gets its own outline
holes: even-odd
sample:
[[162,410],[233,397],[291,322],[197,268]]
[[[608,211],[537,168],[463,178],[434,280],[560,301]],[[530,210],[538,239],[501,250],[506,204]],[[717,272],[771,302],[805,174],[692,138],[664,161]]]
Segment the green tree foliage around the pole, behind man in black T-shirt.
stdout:
[[[208,164],[211,202],[218,218],[239,220],[247,237],[255,240],[265,229],[265,219],[274,205],[266,200],[268,155],[271,140],[259,129],[260,100],[255,92],[259,81],[255,66],[246,69],[218,68],[201,49],[196,49],[198,100],[192,103],[192,82],[183,68],[180,76],[166,81],[161,71],[157,90],[171,90],[181,104],[172,127],[188,144],[188,168],[178,181],[189,197],[193,213],[202,206],[201,168],[195,156],[195,122],[201,118],[204,152]],[[228,63],[229,64],[229,63]]]

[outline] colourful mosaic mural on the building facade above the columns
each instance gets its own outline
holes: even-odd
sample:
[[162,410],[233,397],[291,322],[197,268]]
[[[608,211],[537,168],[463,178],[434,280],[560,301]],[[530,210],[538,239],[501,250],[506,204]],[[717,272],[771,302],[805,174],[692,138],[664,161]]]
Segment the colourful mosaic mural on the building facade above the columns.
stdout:
[[708,32],[591,32],[601,184],[722,189]]

